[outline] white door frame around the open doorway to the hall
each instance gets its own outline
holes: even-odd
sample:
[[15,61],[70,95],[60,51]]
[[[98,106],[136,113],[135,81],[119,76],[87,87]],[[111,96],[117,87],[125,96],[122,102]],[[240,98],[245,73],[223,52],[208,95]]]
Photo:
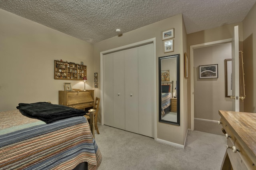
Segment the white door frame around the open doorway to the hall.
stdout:
[[190,129],[194,130],[194,49],[202,48],[209,45],[232,42],[232,38],[219,40],[215,42],[201,43],[190,45]]

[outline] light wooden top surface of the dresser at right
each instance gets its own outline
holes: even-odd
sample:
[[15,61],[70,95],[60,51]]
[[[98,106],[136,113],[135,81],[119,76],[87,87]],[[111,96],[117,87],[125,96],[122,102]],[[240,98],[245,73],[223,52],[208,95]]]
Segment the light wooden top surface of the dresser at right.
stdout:
[[219,111],[241,146],[256,161],[256,113]]

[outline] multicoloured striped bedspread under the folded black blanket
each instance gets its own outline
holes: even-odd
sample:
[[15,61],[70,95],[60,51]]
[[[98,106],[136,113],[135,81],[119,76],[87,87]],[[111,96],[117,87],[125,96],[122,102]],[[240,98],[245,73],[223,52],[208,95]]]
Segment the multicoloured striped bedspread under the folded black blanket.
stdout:
[[85,117],[46,124],[18,109],[0,112],[0,117],[0,170],[70,170],[81,162],[97,169],[101,163]]

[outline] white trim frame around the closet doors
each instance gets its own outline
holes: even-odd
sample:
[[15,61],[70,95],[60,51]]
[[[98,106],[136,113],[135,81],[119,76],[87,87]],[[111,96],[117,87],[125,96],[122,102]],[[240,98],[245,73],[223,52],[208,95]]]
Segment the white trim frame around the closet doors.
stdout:
[[136,43],[132,43],[129,45],[124,45],[122,47],[117,47],[114,49],[109,49],[106,51],[102,51],[100,52],[100,96],[102,98],[102,100],[100,100],[100,105],[101,105],[101,125],[104,125],[104,100],[103,100],[103,96],[104,96],[104,82],[103,82],[103,55],[104,54],[108,54],[108,53],[113,53],[116,51],[120,51],[120,50],[124,50],[124,49],[129,49],[129,48],[133,48],[133,47],[138,47],[141,45],[146,45],[148,43],[153,43],[153,48],[154,48],[154,138],[156,140],[157,137],[157,130],[156,130],[156,120],[157,120],[157,112],[156,112],[156,38],[151,38],[148,40],[144,40],[141,42],[136,42]]

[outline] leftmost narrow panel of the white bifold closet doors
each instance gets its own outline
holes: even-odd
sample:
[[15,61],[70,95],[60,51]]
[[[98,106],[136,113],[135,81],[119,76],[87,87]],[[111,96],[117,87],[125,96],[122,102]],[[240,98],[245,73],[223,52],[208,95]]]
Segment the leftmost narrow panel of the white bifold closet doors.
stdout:
[[103,56],[104,125],[114,126],[113,53]]

